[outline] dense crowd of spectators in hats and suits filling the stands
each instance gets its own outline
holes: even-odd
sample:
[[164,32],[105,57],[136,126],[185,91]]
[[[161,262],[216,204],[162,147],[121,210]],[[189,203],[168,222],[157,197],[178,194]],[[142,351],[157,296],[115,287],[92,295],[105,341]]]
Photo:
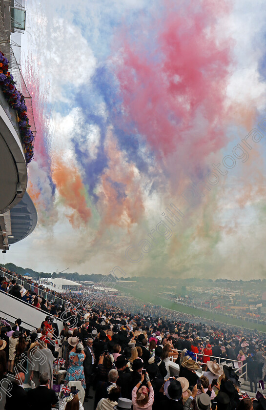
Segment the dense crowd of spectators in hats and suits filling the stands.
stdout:
[[[6,292],[17,286],[3,282]],[[27,298],[27,292],[23,296]],[[6,410],[58,406],[53,385],[59,358],[65,360],[61,383],[79,383],[84,392],[83,397],[75,389],[66,393],[61,410],[82,410],[83,400],[93,399],[97,410],[131,406],[136,410],[265,410],[263,394],[258,401],[242,398],[239,380],[243,364],[250,391],[257,390],[258,380],[265,378],[263,333],[202,323],[200,318],[169,309],[143,306],[134,298],[97,293],[96,301],[89,298],[89,306],[77,293],[60,296],[61,304],[41,299],[47,317],[34,332],[23,328],[21,319],[14,326],[3,320],[0,324],[0,379],[14,376]],[[63,320],[61,332],[57,317]],[[40,354],[45,357],[41,363]],[[25,357],[30,359],[26,366]],[[225,363],[217,363],[219,359]],[[171,361],[179,366],[175,377],[170,376]],[[25,377],[35,389],[23,389]],[[46,399],[40,401],[42,396]]]

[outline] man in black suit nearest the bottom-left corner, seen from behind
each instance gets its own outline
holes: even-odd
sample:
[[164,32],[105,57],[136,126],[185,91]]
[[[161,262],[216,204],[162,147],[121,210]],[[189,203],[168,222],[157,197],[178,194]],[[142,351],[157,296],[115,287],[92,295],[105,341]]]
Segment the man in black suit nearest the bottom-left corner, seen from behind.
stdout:
[[[29,408],[27,393],[23,387],[24,381],[25,374],[18,373],[15,377],[15,380],[12,382],[11,390],[9,390],[8,387],[6,387],[4,384],[3,388],[6,388],[6,403],[4,406],[5,410],[27,410]],[[9,397],[9,395],[11,396]]]

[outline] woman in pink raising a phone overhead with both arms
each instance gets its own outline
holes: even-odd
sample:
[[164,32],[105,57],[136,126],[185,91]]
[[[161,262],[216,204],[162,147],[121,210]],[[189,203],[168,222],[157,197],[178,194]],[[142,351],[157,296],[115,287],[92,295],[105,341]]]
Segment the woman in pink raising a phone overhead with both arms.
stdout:
[[[142,386],[144,379],[146,380],[146,386]],[[154,391],[151,385],[149,375],[145,369],[142,369],[141,381],[136,384],[132,390],[132,405],[133,410],[152,410],[152,405],[154,401]]]

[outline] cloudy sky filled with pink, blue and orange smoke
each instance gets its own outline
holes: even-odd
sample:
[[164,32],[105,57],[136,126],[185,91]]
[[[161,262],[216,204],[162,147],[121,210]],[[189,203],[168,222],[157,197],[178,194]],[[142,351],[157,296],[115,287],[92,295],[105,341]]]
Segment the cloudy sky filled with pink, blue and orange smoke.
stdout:
[[27,0],[37,271],[266,277],[264,1]]

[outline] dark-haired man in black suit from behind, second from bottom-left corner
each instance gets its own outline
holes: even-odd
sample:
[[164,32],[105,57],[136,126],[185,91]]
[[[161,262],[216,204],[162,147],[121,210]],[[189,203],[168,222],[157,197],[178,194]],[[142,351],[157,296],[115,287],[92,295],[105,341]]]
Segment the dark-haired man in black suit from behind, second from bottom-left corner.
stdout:
[[[51,410],[58,402],[56,392],[48,389],[48,373],[40,374],[40,386],[28,391],[28,401],[30,410]],[[19,407],[20,408],[20,407]],[[15,408],[13,408],[15,409]]]

